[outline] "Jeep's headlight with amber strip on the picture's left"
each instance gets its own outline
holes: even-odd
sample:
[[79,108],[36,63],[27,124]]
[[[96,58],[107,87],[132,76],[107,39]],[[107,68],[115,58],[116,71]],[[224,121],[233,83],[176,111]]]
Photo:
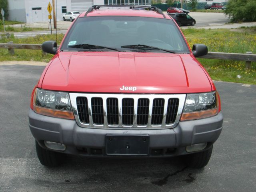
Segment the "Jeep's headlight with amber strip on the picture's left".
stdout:
[[47,116],[74,119],[67,92],[36,89],[34,111]]

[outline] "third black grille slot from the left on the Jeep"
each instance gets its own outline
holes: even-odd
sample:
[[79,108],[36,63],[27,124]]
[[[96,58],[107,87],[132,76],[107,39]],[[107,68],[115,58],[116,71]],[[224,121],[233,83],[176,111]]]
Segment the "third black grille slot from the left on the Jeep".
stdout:
[[109,125],[118,125],[118,98],[107,98],[107,117]]

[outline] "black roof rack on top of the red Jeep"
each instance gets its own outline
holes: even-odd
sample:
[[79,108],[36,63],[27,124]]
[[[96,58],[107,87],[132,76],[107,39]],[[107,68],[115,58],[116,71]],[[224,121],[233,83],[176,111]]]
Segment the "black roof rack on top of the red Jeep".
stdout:
[[133,8],[149,8],[152,11],[156,11],[159,14],[162,14],[162,16],[166,19],[166,16],[162,12],[161,9],[157,8],[156,6],[137,6],[137,5],[93,5],[90,7],[87,12],[85,13],[85,17],[87,16],[88,13],[92,12],[93,10],[100,9],[100,7],[129,7],[130,9]]

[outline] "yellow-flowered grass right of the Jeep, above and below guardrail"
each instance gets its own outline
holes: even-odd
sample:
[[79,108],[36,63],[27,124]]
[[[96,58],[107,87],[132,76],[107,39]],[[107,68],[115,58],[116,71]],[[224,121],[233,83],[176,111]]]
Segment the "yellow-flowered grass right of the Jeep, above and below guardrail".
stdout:
[[[240,29],[194,29],[182,30],[190,48],[193,44],[206,44],[210,52],[256,54],[256,28]],[[227,82],[256,84],[256,62],[245,70],[245,62],[231,60],[198,59],[212,79]],[[236,76],[240,75],[241,78]]]

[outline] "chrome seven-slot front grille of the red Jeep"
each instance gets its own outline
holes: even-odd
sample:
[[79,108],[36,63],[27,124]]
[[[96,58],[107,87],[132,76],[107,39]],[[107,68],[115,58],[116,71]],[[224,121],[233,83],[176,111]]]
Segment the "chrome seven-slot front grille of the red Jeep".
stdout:
[[86,128],[173,128],[185,98],[185,94],[70,93],[76,122]]

